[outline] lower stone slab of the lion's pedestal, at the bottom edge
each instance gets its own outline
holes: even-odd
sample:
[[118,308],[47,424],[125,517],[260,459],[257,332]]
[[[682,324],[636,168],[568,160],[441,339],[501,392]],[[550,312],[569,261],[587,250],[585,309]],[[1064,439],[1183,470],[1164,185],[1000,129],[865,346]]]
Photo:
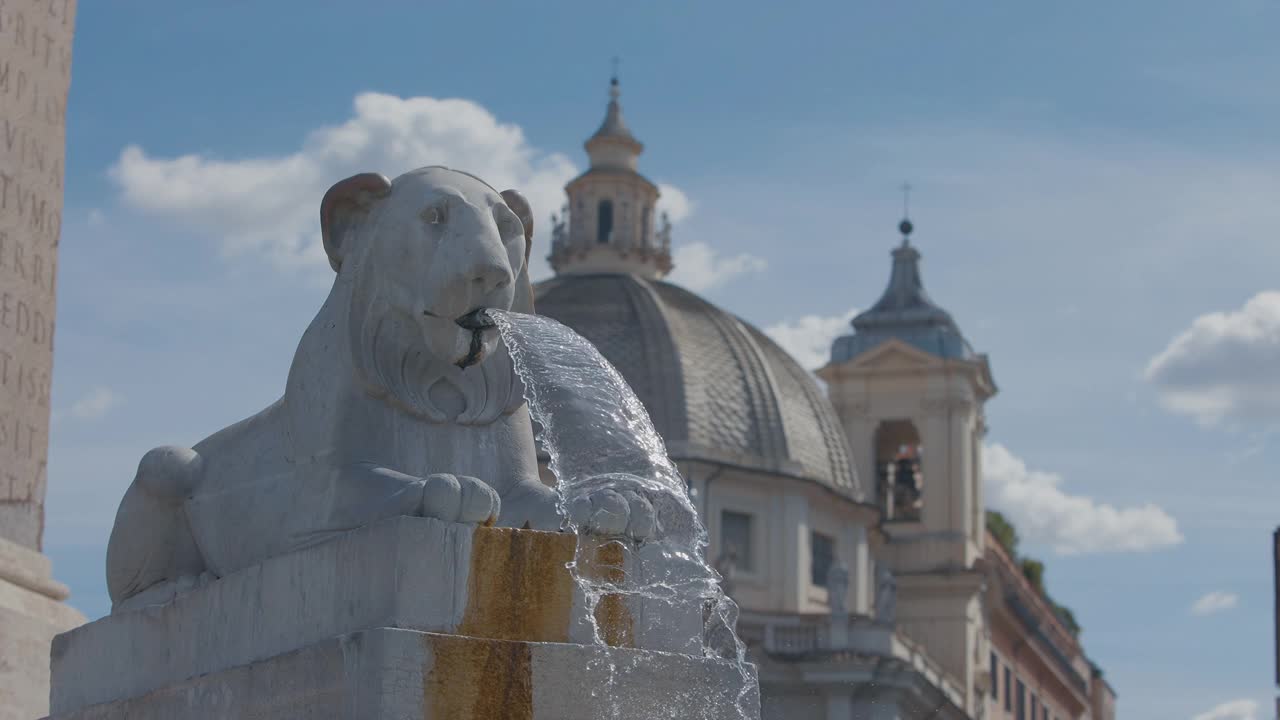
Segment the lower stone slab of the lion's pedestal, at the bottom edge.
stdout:
[[732,662],[378,628],[51,720],[753,720]]

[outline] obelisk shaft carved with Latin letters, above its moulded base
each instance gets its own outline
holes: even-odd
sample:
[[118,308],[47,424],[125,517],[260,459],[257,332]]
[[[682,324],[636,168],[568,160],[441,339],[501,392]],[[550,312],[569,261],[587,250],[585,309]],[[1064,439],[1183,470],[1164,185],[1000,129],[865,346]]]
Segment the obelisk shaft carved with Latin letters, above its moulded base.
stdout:
[[0,537],[40,548],[76,0],[0,0]]

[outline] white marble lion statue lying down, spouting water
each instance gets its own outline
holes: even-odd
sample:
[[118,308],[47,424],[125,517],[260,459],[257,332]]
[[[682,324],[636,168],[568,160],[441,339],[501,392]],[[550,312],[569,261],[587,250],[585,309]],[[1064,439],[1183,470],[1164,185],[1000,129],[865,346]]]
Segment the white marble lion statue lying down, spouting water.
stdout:
[[[397,515],[566,527],[539,480],[522,384],[481,311],[532,313],[525,199],[448,168],[365,173],[329,188],[320,222],[337,278],[284,396],[195,447],[142,457],[108,546],[114,611]],[[657,529],[637,489],[588,500],[573,506],[580,532]]]

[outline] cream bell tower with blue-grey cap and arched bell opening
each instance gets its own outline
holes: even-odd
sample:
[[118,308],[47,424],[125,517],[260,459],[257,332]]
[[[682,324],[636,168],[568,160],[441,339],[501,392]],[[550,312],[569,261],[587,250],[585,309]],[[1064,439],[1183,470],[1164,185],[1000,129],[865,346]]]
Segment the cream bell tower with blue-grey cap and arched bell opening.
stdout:
[[876,561],[897,584],[897,628],[963,683],[973,710],[986,659],[983,405],[996,384],[987,356],[924,292],[911,222],[899,229],[888,287],[818,374],[859,477],[876,487]]

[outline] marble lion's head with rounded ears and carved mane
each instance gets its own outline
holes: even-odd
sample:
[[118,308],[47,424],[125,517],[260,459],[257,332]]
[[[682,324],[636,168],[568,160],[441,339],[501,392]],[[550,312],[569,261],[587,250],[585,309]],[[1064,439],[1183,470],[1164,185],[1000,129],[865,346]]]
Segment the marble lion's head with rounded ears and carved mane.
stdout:
[[371,392],[433,421],[483,424],[520,405],[497,328],[474,322],[481,309],[532,313],[532,215],[518,192],[439,167],[364,173],[325,193],[320,224]]

